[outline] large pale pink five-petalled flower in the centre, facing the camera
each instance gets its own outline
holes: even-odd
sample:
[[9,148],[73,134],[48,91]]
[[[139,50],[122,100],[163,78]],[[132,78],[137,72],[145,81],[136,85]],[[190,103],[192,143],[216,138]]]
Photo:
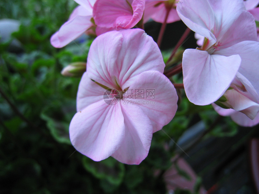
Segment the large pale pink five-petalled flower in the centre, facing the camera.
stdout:
[[163,75],[164,66],[158,46],[141,29],[98,36],[70,123],[73,146],[95,161],[112,156],[139,164],[145,159],[152,133],[170,122],[177,109],[176,90]]

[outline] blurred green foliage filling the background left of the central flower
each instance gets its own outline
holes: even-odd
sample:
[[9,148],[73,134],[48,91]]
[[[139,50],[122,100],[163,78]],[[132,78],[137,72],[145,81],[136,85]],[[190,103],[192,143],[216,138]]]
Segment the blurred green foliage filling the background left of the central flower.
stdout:
[[[75,7],[72,0],[0,1],[1,19],[21,22],[12,37],[23,50],[14,53],[8,50],[10,42],[0,43],[1,90],[29,121],[1,95],[0,193],[166,193],[162,174],[176,155],[172,140],[177,142],[197,119],[209,126],[217,116],[208,117],[211,106],[193,105],[182,94],[175,118],[153,135],[149,155],[140,165],[124,165],[113,158],[94,162],[74,152],[68,128],[76,113],[80,78],[60,72],[72,62],[86,62],[92,39],[62,49],[52,47],[49,39]],[[182,77],[173,79],[181,82]],[[233,135],[236,125],[230,126],[229,131],[215,128],[211,134]],[[179,174],[188,177],[180,169]]]

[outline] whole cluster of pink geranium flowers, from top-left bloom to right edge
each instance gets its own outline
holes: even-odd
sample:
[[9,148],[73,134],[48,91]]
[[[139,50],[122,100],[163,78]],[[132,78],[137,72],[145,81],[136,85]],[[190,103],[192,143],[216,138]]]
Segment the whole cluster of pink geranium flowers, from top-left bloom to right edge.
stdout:
[[112,156],[139,164],[152,134],[173,119],[178,96],[168,74],[163,75],[159,44],[143,30],[150,19],[182,20],[198,38],[199,47],[186,49],[182,58],[190,102],[213,103],[220,115],[231,115],[239,125],[259,123],[259,0],[75,1],[80,5],[51,44],[61,48],[83,33],[97,36],[70,123],[70,139],[79,152],[95,161]]

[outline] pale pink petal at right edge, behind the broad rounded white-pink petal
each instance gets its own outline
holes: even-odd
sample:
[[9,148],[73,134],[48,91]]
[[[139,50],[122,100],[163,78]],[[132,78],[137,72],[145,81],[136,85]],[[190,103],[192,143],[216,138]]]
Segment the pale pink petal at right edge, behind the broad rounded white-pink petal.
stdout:
[[259,94],[259,76],[258,76],[258,61],[259,61],[259,42],[243,41],[229,48],[217,51],[217,54],[231,56],[238,54],[242,61],[239,72],[251,82],[257,94]]

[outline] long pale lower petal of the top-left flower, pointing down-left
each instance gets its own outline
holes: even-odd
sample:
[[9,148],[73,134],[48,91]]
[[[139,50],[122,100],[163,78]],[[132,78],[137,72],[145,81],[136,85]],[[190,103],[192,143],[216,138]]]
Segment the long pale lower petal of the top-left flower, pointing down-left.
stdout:
[[92,26],[90,19],[91,16],[77,16],[64,23],[59,31],[51,36],[51,45],[62,48],[72,42]]

